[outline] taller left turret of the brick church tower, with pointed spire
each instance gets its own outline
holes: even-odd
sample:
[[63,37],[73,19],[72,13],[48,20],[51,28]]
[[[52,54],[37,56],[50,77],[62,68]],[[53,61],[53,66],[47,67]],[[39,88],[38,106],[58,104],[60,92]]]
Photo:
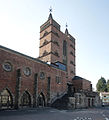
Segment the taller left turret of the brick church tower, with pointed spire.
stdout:
[[40,27],[40,60],[50,63],[60,61],[59,32],[60,25],[50,13],[48,20]]

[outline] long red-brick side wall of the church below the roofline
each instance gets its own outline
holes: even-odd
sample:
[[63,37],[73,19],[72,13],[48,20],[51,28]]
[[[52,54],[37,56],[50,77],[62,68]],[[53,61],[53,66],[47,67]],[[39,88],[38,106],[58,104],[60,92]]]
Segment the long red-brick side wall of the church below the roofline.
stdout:
[[[9,62],[12,65],[12,71],[7,72],[3,69],[3,63]],[[31,69],[31,75],[26,76],[24,74],[25,67]],[[21,70],[21,83],[20,83],[20,95],[27,90],[32,96],[34,94],[34,75],[38,74],[38,84],[37,84],[37,94],[43,92],[47,99],[47,80],[48,77],[51,78],[50,83],[50,95],[51,97],[56,97],[58,93],[63,93],[67,89],[67,79],[66,72],[53,68],[42,62],[38,62],[35,59],[15,53],[10,50],[5,50],[5,48],[0,48],[0,92],[8,88],[11,93],[15,96],[16,89],[16,71]],[[45,78],[40,78],[40,73],[45,73]],[[61,76],[61,83],[57,84],[56,76]]]

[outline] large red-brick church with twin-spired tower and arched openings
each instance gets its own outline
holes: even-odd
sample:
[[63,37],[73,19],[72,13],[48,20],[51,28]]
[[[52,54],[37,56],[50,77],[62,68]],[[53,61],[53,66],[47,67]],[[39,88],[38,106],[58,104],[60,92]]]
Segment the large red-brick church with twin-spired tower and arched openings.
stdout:
[[51,13],[40,27],[38,58],[0,46],[0,109],[57,106],[70,98],[76,104],[74,94],[86,86],[93,94],[90,81],[75,77],[75,38],[60,31]]

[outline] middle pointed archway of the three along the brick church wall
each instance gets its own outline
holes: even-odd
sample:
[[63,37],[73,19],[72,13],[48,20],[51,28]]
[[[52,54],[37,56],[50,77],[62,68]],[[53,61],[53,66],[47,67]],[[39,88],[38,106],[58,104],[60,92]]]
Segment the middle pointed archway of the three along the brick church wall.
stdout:
[[21,106],[30,107],[31,106],[31,96],[25,91],[21,97]]

